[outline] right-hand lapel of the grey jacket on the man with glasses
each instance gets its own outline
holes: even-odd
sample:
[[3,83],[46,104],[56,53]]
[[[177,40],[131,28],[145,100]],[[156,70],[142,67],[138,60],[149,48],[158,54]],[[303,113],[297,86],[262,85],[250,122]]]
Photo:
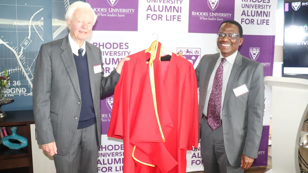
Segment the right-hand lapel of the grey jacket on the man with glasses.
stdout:
[[222,105],[222,109],[225,107],[225,104],[227,103],[230,94],[232,93],[233,86],[235,81],[237,80],[238,75],[240,74],[242,70],[242,55],[238,52],[235,58],[235,62],[233,64],[231,74],[227,83],[225,97],[224,97],[224,103]]

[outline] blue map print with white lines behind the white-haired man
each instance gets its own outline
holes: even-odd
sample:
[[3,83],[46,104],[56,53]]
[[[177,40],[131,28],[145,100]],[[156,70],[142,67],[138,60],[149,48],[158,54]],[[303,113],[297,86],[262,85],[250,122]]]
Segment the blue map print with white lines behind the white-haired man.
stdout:
[[14,103],[5,106],[6,109],[32,109],[32,80],[39,49],[43,43],[69,33],[64,16],[75,1],[1,1],[0,76],[4,69],[8,70],[11,82],[6,97],[15,99]]

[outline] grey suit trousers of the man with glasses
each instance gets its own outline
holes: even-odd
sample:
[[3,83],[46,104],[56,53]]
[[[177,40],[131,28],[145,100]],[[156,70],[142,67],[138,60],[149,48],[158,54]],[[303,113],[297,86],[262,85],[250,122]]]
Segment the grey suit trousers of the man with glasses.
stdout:
[[221,125],[213,131],[206,117],[202,119],[200,152],[204,173],[244,173],[240,166],[233,167],[228,161],[222,128]]

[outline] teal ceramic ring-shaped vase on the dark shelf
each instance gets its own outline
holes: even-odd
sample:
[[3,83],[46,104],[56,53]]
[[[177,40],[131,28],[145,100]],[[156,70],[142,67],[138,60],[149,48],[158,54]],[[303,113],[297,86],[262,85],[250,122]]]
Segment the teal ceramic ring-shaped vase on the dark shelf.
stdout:
[[[16,133],[17,129],[18,127],[11,127],[12,135],[7,135],[1,139],[1,143],[4,146],[13,150],[19,150],[28,146],[28,140],[25,137],[18,135]],[[11,142],[13,140],[15,140],[16,142]],[[19,141],[20,143],[18,143],[17,141]]]

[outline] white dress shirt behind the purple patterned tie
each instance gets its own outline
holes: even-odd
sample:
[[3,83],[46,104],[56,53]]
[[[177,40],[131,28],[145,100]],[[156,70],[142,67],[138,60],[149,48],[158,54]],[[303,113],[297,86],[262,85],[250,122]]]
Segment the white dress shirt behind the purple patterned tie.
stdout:
[[[236,51],[234,54],[226,57],[226,61],[223,64],[224,74],[223,74],[223,79],[222,79],[221,110],[222,110],[222,106],[223,106],[223,103],[224,103],[224,97],[225,97],[225,91],[226,91],[227,83],[228,83],[228,80],[229,80],[229,77],[230,77],[230,74],[231,74],[233,64],[235,62],[237,52],[238,51]],[[203,114],[205,116],[207,116],[206,114],[207,114],[207,111],[208,111],[208,103],[209,103],[209,98],[210,98],[210,95],[211,95],[211,92],[212,92],[214,77],[215,77],[216,70],[217,70],[217,68],[218,68],[218,66],[221,62],[221,58],[224,58],[224,57],[220,53],[220,56],[219,56],[219,58],[216,62],[216,65],[214,67],[214,70],[213,70],[212,75],[211,75],[210,80],[209,80],[209,85],[208,85],[207,94],[206,94],[206,97],[205,97],[204,109],[203,109]],[[220,113],[220,117],[221,117],[221,113]]]

